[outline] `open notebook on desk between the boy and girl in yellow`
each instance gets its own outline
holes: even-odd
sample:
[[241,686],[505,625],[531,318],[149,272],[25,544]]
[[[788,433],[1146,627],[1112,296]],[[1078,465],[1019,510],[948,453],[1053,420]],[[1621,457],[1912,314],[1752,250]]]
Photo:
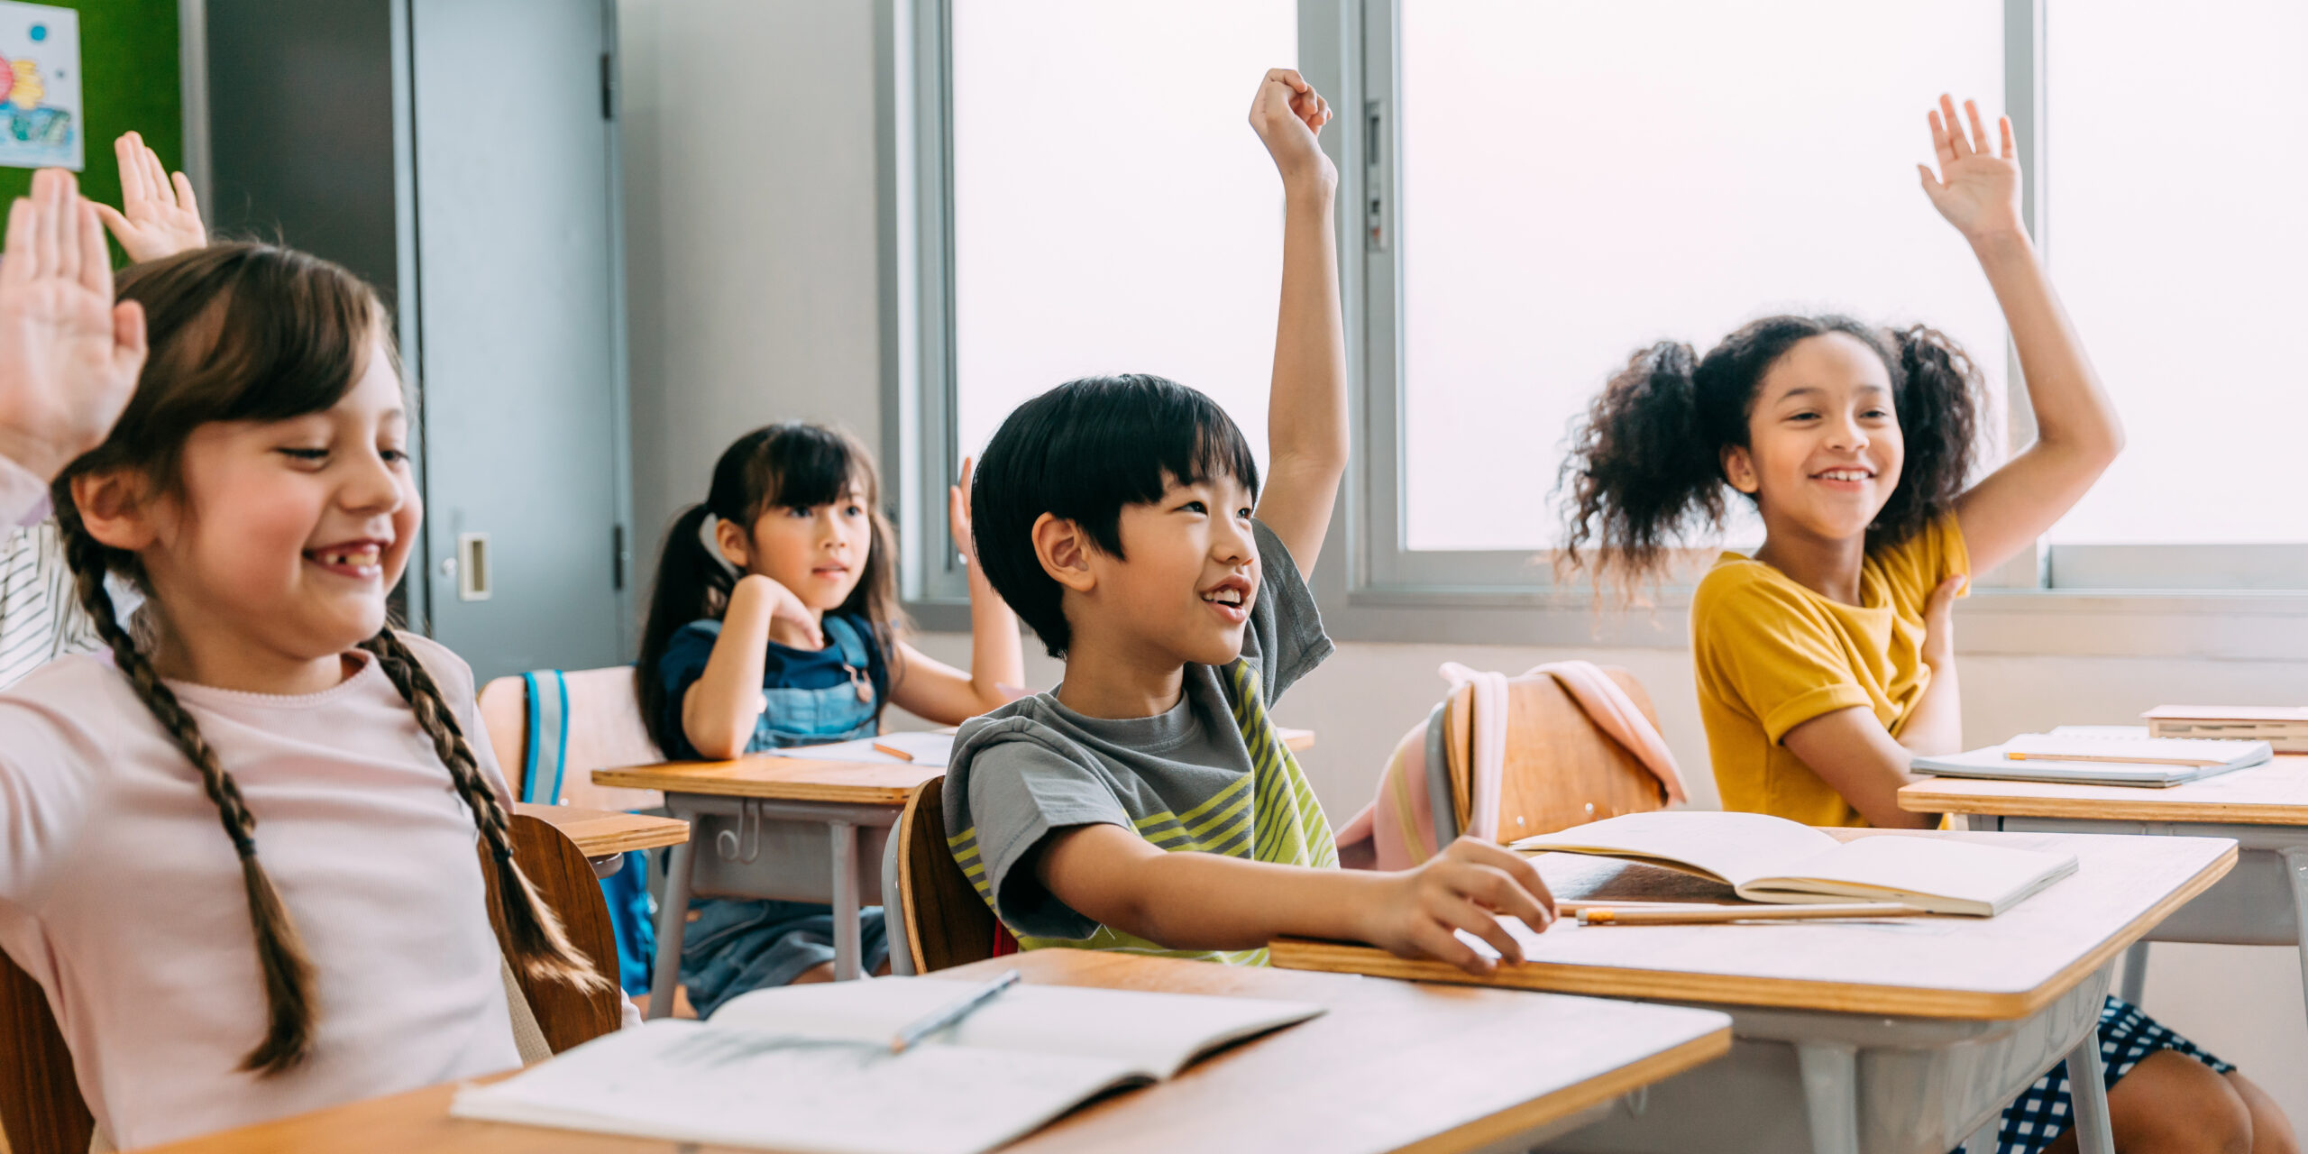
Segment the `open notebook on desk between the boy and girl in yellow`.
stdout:
[[1629,812],[1514,842],[1713,877],[1749,902],[1906,902],[1994,916],[2075,872],[2068,854],[1883,833],[1837,842],[1761,812]]

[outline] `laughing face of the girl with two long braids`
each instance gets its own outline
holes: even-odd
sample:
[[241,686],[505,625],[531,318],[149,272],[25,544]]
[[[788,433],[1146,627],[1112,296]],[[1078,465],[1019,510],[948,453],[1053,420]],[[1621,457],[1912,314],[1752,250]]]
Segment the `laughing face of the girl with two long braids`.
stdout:
[[[422,522],[402,381],[381,339],[335,406],[192,429],[178,485],[85,478],[78,505],[106,545],[134,549],[166,621],[171,676],[240,660],[316,662],[385,625]],[[106,494],[111,489],[111,494]],[[111,496],[111,501],[106,499]]]

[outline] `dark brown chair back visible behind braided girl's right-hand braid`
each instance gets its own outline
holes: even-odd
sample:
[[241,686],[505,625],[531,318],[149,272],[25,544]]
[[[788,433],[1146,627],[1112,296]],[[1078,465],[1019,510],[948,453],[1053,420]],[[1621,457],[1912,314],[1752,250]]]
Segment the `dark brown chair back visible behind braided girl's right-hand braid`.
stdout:
[[[505,923],[496,907],[496,870],[487,868],[487,842],[482,842],[480,854],[482,877],[489,882],[489,926],[496,930],[499,949],[510,958],[512,949],[505,944]],[[512,861],[529,875],[529,884],[538,886],[545,905],[561,916],[561,928],[568,930],[570,944],[591,958],[593,969],[607,976],[612,986],[600,992],[582,992],[559,981],[535,981],[515,967],[512,976],[522,983],[522,992],[529,995],[529,1009],[538,1016],[545,1041],[559,1055],[623,1022],[625,1009],[621,1002],[625,995],[616,990],[616,932],[609,928],[609,902],[602,900],[600,882],[593,877],[593,865],[584,859],[584,852],[549,822],[540,822],[526,812],[512,815]]]

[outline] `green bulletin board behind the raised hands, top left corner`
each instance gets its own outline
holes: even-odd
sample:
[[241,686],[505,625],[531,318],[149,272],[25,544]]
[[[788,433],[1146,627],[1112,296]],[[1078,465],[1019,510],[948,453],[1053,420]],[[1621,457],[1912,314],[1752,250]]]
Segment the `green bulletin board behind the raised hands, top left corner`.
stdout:
[[[37,2],[81,14],[81,108],[88,115],[81,192],[120,205],[113,138],[129,129],[143,134],[168,171],[182,168],[185,97],[178,78],[175,0]],[[30,187],[32,168],[0,168],[0,203]]]

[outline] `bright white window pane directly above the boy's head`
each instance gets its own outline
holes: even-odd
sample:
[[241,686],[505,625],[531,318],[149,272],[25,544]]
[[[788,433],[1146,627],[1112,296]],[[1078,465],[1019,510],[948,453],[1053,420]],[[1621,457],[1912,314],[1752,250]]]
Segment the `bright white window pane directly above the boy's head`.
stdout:
[[1295,0],[958,0],[958,436],[1076,376],[1152,372],[1267,448],[1283,187],[1249,127]]

